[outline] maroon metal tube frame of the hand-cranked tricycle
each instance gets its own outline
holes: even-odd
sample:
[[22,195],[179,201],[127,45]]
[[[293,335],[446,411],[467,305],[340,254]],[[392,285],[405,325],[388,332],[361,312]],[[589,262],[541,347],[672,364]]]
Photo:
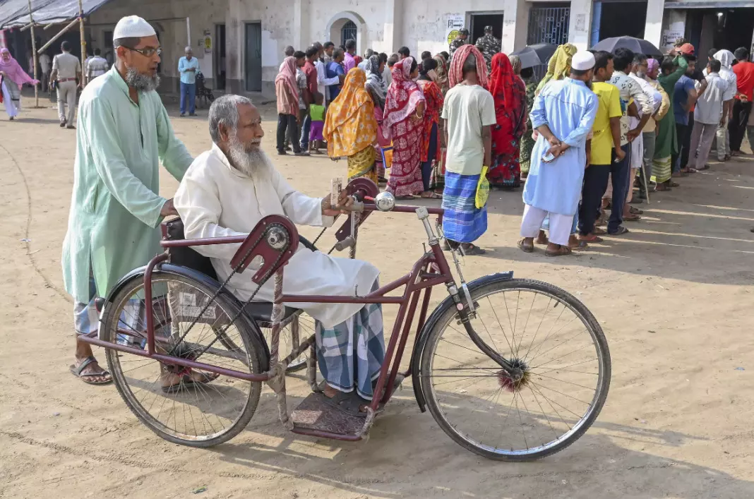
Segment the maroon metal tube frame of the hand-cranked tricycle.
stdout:
[[[376,211],[374,204],[364,204],[363,210]],[[393,212],[398,213],[414,213],[416,207],[409,206],[395,206]],[[440,208],[427,208],[428,213],[438,216],[438,222],[442,222],[443,211]],[[205,246],[209,244],[230,244],[230,243],[243,243],[247,239],[247,236],[231,236],[231,237],[212,237],[203,239],[185,239],[185,240],[167,240],[167,229],[165,225],[162,225],[163,240],[160,244],[164,248],[171,248],[176,246]],[[429,301],[433,286],[439,284],[453,283],[453,277],[448,265],[448,261],[443,254],[443,250],[440,249],[439,240],[431,240],[430,249],[417,262],[413,265],[409,274],[394,280],[391,283],[385,284],[385,286],[375,289],[375,291],[369,292],[363,296],[347,296],[347,295],[287,295],[281,294],[275,297],[275,304],[282,303],[381,303],[381,304],[396,304],[400,305],[398,314],[395,318],[393,326],[393,332],[391,334],[388,347],[385,349],[385,360],[382,362],[382,368],[380,369],[380,375],[375,387],[374,393],[383,393],[382,390],[385,386],[392,387],[395,378],[398,375],[398,369],[400,369],[400,360],[403,358],[403,351],[406,348],[406,342],[408,341],[411,333],[411,324],[414,320],[414,314],[416,307],[418,306],[418,300],[422,290],[424,290],[424,297],[421,302],[421,310],[419,311],[418,323],[416,327],[417,338],[418,332],[424,326],[427,318],[427,311],[429,307]],[[268,381],[269,375],[267,373],[253,374],[248,372],[241,372],[235,369],[227,369],[220,366],[213,366],[211,364],[197,362],[195,360],[184,359],[182,357],[173,357],[170,355],[159,354],[155,351],[155,328],[154,321],[152,319],[152,273],[155,268],[161,263],[167,261],[169,258],[167,252],[161,253],[155,256],[149,261],[149,265],[146,266],[144,272],[144,301],[146,309],[146,340],[147,350],[127,347],[126,345],[113,343],[112,341],[104,341],[97,338],[97,332],[93,332],[89,335],[81,335],[78,341],[84,341],[85,343],[95,344],[100,347],[112,348],[115,351],[127,352],[128,354],[138,355],[140,357],[149,357],[164,364],[173,364],[178,366],[189,367],[192,369],[201,369],[202,371],[214,372],[219,375],[230,376],[231,378],[239,378],[247,381]],[[433,271],[434,268],[434,271]],[[283,267],[284,269],[284,267]],[[398,289],[400,286],[406,286],[403,290],[403,295],[400,296],[386,296],[387,293]],[[401,331],[403,329],[403,331]],[[388,375],[388,368],[390,368]],[[412,371],[412,366],[409,365],[405,375],[408,375]],[[372,400],[372,410],[376,410],[380,403],[386,403],[390,400],[393,390],[385,390],[385,395],[382,399],[375,397]]]

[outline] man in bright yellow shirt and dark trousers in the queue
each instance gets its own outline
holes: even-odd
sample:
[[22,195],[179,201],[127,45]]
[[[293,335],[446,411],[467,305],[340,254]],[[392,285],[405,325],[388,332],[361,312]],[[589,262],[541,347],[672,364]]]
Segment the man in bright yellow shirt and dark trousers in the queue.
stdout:
[[581,206],[578,209],[578,237],[580,240],[599,243],[602,239],[593,232],[602,194],[605,194],[608,178],[615,170],[616,161],[620,162],[626,153],[621,148],[621,93],[618,87],[607,83],[613,73],[612,54],[596,51],[594,60],[592,91],[597,96],[599,108],[592,126],[592,138],[587,141],[590,155],[587,156]]

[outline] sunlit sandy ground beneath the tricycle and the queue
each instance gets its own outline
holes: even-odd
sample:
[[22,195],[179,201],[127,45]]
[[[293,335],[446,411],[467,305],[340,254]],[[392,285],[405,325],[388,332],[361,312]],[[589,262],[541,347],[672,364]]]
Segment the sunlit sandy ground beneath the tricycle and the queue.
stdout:
[[[367,442],[285,432],[265,388],[247,430],[204,450],[159,439],[115,387],[69,374],[72,305],[60,248],[75,136],[57,127],[53,109],[31,104],[25,99],[20,120],[0,121],[0,497],[193,497],[205,485],[201,497],[754,497],[751,161],[682,179],[642,206],[629,237],[562,259],[516,249],[520,193],[492,193],[479,241],[489,253],[466,260],[467,277],[513,270],[562,286],[608,337],[607,403],[566,451],[529,464],[477,457],[418,412],[409,383]],[[172,115],[193,154],[209,147],[206,109]],[[345,176],[344,163],[325,158],[274,161],[308,194]],[[170,197],[176,182],[161,176]],[[360,256],[383,280],[398,277],[420,256],[422,234],[412,215],[377,214],[360,232]],[[304,384],[293,380],[289,394],[305,396]]]

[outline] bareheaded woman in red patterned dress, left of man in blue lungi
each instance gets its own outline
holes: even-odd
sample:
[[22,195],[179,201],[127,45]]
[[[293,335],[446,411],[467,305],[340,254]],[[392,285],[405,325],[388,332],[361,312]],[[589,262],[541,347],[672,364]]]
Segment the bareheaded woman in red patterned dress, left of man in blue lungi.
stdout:
[[432,182],[434,167],[442,162],[440,137],[443,136],[443,130],[440,128],[440,113],[443,112],[443,92],[432,78],[433,75],[437,78],[435,69],[437,69],[436,60],[425,59],[421,61],[419,78],[416,81],[427,101],[422,133],[423,145],[421,147],[421,182],[424,183],[424,192],[421,193],[421,197],[442,199],[443,197],[440,194],[433,191],[435,188],[442,187],[442,185],[438,185],[437,176],[434,176],[434,183]]

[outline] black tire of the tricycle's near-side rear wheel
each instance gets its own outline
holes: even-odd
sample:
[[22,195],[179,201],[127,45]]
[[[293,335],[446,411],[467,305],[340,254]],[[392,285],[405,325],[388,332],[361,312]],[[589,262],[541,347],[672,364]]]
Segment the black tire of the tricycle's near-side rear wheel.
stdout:
[[[172,280],[174,282],[187,284],[201,290],[209,296],[213,295],[214,292],[216,292],[216,289],[213,289],[206,283],[202,283],[199,280],[192,279],[191,277],[182,274],[173,273],[172,271],[155,270],[152,274],[152,282],[159,280]],[[121,317],[121,310],[123,310],[124,305],[127,303],[129,298],[131,298],[136,292],[138,292],[139,289],[143,289],[143,283],[143,274],[136,274],[129,281],[127,281],[127,283],[124,283],[118,293],[112,298],[112,303],[106,309],[105,315],[103,316],[103,319],[101,321],[101,324],[103,325],[103,327],[105,327],[105,331],[103,332],[103,339],[112,342],[115,342],[117,340],[117,328],[118,321]],[[239,302],[225,292],[221,292],[216,297],[216,303],[220,307],[222,307],[222,310],[231,317],[233,317],[240,310]],[[250,326],[247,320],[248,319],[245,316],[241,316],[235,321],[235,326],[238,329],[238,337],[241,338],[241,343],[244,345],[247,353],[247,360],[244,360],[243,363],[247,365],[247,368],[250,370],[250,372],[257,374],[261,373],[263,369],[262,366],[266,366],[267,364],[264,357],[265,347],[262,345],[262,342],[259,339],[259,335],[253,331],[252,326]],[[221,343],[224,343],[224,341],[221,341]],[[115,387],[118,389],[118,393],[120,394],[121,398],[124,400],[128,408],[131,410],[131,412],[136,415],[136,418],[138,418],[139,421],[141,421],[146,427],[148,427],[150,430],[152,430],[154,433],[156,433],[162,439],[167,440],[168,442],[200,448],[212,447],[213,445],[227,442],[229,439],[232,439],[234,436],[238,435],[241,430],[244,430],[244,427],[247,426],[250,419],[253,417],[254,412],[256,412],[256,407],[259,404],[259,397],[262,392],[262,383],[258,381],[250,383],[251,386],[247,400],[245,400],[244,408],[241,411],[240,415],[238,415],[238,418],[235,419],[231,427],[228,427],[228,429],[226,429],[219,435],[213,436],[211,438],[181,438],[176,434],[168,433],[166,430],[164,430],[164,424],[161,424],[160,421],[152,416],[149,410],[146,410],[139,402],[139,400],[136,399],[133,391],[130,390],[130,387],[124,376],[124,370],[121,368],[119,354],[120,353],[116,350],[110,348],[106,349],[109,371],[112,373],[112,379]]]

